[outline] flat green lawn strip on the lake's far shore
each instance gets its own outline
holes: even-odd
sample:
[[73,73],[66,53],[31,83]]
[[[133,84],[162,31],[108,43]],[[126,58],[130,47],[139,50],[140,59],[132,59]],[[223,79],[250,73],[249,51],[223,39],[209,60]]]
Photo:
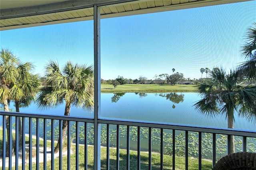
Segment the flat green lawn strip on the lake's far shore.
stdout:
[[159,84],[125,84],[113,85],[102,84],[102,93],[124,93],[124,92],[195,92],[196,85],[159,85]]

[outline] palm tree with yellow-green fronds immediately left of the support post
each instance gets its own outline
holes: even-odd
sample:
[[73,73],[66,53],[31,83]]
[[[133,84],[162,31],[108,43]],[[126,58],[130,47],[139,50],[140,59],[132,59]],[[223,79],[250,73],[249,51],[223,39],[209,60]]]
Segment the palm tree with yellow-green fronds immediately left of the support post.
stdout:
[[[66,103],[64,115],[70,115],[71,105],[92,109],[94,107],[93,96],[93,66],[73,65],[68,61],[62,71],[56,61],[49,61],[45,67],[45,86],[42,87],[36,103],[39,108],[57,107]],[[62,139],[66,136],[68,121],[62,123]],[[54,152],[59,151],[60,138]]]

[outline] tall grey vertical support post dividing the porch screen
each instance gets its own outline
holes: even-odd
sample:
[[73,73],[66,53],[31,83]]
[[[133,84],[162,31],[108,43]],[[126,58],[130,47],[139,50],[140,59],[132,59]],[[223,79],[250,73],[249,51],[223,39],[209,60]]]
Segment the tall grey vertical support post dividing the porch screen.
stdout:
[[94,170],[100,169],[100,9],[94,5]]

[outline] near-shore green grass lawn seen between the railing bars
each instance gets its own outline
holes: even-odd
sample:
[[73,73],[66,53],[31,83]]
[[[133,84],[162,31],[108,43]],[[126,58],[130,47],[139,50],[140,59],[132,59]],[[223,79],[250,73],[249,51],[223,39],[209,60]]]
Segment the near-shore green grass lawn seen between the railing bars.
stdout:
[[[0,136],[2,136],[2,129],[0,130]],[[15,133],[13,133],[15,136]],[[7,140],[7,139],[6,139]],[[29,142],[29,138],[26,137],[26,144]],[[0,146],[2,146],[2,137],[0,137]],[[32,139],[32,145],[36,144],[36,140]],[[56,143],[55,143],[56,145]],[[43,140],[40,140],[40,146],[43,146]],[[47,147],[51,146],[51,142],[47,141]],[[73,150],[73,154],[70,156],[71,169],[75,170],[76,167],[76,152],[75,145],[72,144],[71,149]],[[1,148],[2,150],[2,148]],[[94,146],[88,146],[88,169],[93,170],[94,165]],[[67,168],[67,156],[62,157],[62,169]],[[185,158],[176,156],[176,164],[175,167],[177,170],[185,169]],[[46,163],[47,169],[51,169],[51,162],[48,161]],[[2,169],[0,165],[0,169]],[[36,164],[32,164],[33,168],[36,169]],[[59,167],[59,158],[54,160],[54,167],[58,169]],[[202,160],[202,169],[211,170],[212,162],[208,160]],[[19,167],[19,169],[21,166]],[[28,168],[28,164],[26,164],[25,169]],[[7,168],[8,169],[8,168]],[[40,170],[43,170],[43,163],[40,163]],[[84,145],[79,145],[79,169],[84,169]],[[101,148],[101,169],[106,169],[106,147]],[[110,148],[110,169],[116,169],[116,148]],[[126,169],[126,150],[120,149],[120,169]],[[130,170],[137,169],[137,151],[130,150]],[[148,153],[141,152],[140,155],[140,169],[146,170],[148,169]],[[152,154],[152,170],[160,169],[160,154]],[[172,156],[164,155],[164,169],[171,170],[172,169]],[[198,169],[198,159],[189,158],[189,170]]]

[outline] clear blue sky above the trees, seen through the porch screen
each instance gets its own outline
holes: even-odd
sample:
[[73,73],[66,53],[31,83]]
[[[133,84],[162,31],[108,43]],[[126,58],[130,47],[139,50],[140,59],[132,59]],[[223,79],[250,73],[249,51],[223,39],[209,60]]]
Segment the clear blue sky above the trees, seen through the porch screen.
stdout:
[[[256,22],[256,1],[101,20],[101,78],[172,74],[200,78],[200,68],[227,70],[240,55],[246,29]],[[50,59],[62,66],[93,61],[93,21],[6,30],[0,46],[44,74]],[[205,77],[205,73],[203,77]]]

